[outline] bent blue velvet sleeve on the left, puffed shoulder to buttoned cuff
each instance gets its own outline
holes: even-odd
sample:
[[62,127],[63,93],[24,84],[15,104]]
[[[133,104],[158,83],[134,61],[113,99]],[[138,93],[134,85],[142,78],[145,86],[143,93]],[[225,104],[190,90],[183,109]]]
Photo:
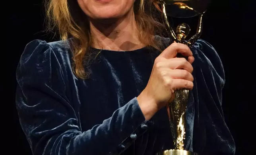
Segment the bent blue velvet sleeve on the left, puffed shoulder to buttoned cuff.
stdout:
[[17,67],[17,112],[33,154],[119,154],[150,125],[136,97],[101,124],[82,132],[79,105],[67,96],[70,62],[60,52],[64,51],[34,40],[25,47]]

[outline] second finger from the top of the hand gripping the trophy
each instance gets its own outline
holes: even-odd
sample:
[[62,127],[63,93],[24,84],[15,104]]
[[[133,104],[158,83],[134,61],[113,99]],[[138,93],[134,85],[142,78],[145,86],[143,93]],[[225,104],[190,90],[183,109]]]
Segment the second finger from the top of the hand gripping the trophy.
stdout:
[[188,72],[193,72],[193,66],[185,58],[162,59],[157,62],[157,68],[184,69]]

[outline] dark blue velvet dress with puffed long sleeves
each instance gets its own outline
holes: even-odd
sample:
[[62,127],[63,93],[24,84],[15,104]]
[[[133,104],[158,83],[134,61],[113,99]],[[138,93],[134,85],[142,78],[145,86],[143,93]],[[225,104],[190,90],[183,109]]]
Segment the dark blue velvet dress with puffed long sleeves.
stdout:
[[[168,38],[160,39],[169,45]],[[90,62],[90,77],[83,80],[72,71],[67,42],[30,42],[17,67],[17,112],[33,154],[153,155],[172,149],[166,109],[145,121],[136,98],[160,52],[147,47],[102,50]],[[98,52],[92,48],[91,56]],[[221,108],[221,60],[204,40],[192,52],[194,89],[186,113],[185,148],[201,155],[234,155]]]

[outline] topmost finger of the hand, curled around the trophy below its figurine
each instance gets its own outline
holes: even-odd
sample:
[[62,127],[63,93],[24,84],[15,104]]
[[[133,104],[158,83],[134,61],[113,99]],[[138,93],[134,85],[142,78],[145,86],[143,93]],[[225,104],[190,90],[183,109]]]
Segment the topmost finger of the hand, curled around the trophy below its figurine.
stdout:
[[192,51],[187,45],[182,43],[172,43],[159,56],[166,59],[171,59],[176,57],[177,53],[181,53],[184,56],[193,55]]

